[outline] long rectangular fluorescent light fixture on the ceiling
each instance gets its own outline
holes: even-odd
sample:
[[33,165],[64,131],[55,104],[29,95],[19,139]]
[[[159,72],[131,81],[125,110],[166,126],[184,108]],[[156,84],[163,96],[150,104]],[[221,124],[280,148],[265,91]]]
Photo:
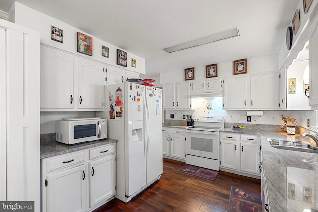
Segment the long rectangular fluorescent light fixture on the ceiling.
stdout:
[[172,52],[176,52],[176,51],[180,51],[183,49],[188,49],[188,48],[192,48],[192,47],[196,47],[196,46],[200,46],[203,44],[207,44],[207,43],[211,43],[211,42],[215,42],[215,41],[220,41],[223,39],[227,39],[227,38],[233,38],[239,36],[239,27],[234,27],[234,28],[230,28],[230,29],[226,29],[220,32],[216,32],[210,35],[206,35],[200,38],[195,38],[193,40],[190,41],[185,41],[179,44],[176,44],[174,46],[170,46],[167,48],[164,48],[163,50],[166,51],[167,53],[172,53]]

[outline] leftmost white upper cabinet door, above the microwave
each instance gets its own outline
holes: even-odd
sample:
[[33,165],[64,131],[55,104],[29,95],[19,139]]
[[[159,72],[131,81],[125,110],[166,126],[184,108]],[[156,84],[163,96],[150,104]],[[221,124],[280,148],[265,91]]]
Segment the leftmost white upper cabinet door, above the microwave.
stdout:
[[41,46],[40,67],[40,107],[73,108],[74,57]]

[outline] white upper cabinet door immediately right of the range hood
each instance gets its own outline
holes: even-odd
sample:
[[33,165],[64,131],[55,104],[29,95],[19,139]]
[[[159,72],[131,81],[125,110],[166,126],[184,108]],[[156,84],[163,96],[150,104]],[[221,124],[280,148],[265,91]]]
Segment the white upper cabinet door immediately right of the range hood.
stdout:
[[247,109],[247,77],[224,79],[224,109]]

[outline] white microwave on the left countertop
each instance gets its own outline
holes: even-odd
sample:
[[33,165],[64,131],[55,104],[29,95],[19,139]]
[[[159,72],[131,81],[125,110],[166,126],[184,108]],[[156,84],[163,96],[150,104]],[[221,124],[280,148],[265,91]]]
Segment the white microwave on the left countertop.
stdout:
[[107,121],[100,117],[56,121],[56,141],[73,145],[107,138]]

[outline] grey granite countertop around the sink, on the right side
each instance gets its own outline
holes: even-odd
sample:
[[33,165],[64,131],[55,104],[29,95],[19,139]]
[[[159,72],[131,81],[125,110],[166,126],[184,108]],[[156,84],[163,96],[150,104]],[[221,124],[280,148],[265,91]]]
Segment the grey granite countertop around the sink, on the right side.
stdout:
[[[262,171],[265,175],[271,212],[316,212],[318,210],[318,154],[276,149],[267,138],[307,141],[308,137],[287,135],[266,130],[237,131],[231,128],[220,132],[260,135]],[[308,196],[306,195],[308,194]]]

